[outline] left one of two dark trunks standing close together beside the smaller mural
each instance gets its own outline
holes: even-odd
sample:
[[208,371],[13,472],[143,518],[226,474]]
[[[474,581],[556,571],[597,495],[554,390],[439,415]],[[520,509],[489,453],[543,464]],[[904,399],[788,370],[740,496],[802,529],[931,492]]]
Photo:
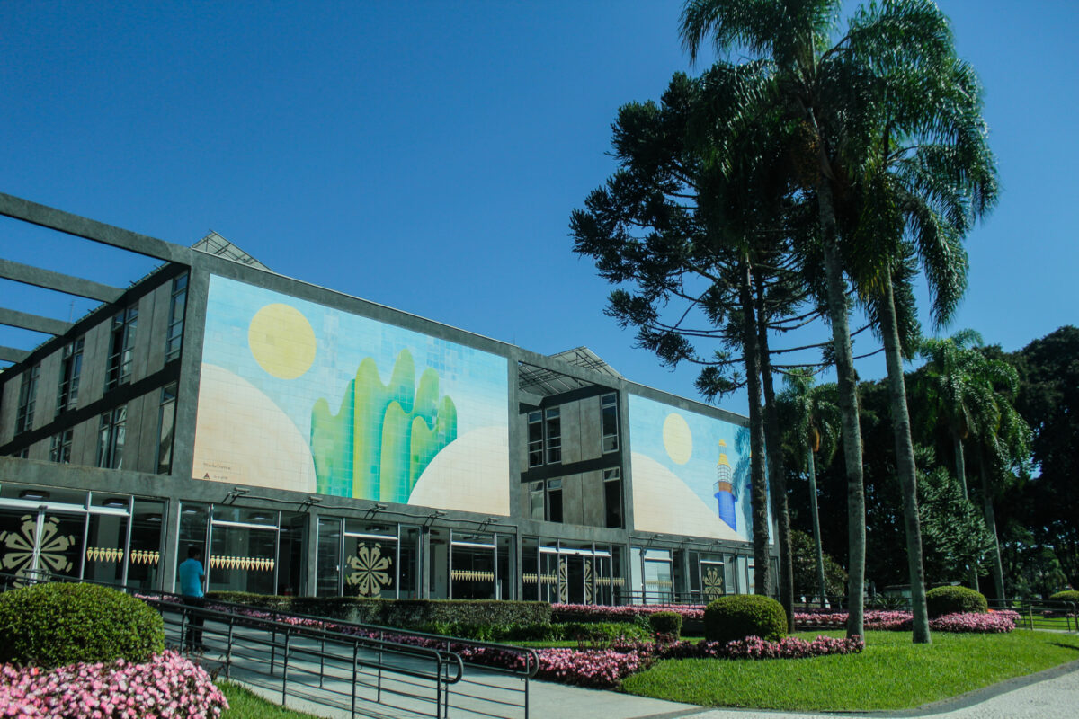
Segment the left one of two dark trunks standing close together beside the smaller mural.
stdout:
[[764,476],[764,418],[761,413],[761,361],[753,312],[753,278],[749,257],[742,257],[738,301],[742,308],[742,351],[749,391],[750,506],[753,514],[753,592],[771,595],[768,556],[768,495]]

